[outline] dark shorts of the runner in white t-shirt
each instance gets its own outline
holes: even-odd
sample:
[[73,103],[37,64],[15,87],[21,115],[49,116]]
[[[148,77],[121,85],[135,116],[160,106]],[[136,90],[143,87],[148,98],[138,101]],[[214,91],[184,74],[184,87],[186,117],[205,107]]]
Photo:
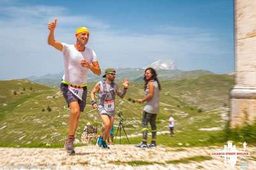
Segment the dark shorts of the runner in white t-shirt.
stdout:
[[82,95],[82,98],[83,98],[82,101],[80,99],[78,99],[74,94],[72,94],[72,92],[70,92],[70,90],[68,90],[68,85],[66,85],[65,83],[61,83],[60,89],[61,89],[61,92],[62,92],[65,100],[67,101],[68,107],[69,107],[69,103],[77,101],[79,104],[80,111],[81,112],[84,111],[84,108],[86,106],[87,87],[83,87],[84,91],[83,91],[83,95]]

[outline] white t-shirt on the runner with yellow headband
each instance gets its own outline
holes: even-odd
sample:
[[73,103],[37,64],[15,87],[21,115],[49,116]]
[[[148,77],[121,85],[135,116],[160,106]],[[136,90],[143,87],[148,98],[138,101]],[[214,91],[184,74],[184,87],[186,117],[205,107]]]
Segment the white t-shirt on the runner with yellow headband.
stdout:
[[67,45],[66,43],[62,43],[62,45],[64,57],[63,80],[68,81],[72,85],[83,85],[87,83],[88,68],[81,65],[81,60],[88,60],[89,63],[97,61],[95,52],[87,46],[83,52],[79,52],[74,45]]

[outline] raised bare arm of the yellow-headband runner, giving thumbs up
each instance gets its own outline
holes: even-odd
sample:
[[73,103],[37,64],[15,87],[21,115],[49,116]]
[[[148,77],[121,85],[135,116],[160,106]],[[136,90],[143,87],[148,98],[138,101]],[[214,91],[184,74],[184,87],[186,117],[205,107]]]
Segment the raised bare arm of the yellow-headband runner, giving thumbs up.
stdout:
[[56,25],[57,25],[57,18],[55,18],[54,21],[51,21],[48,24],[48,29],[50,31],[48,36],[48,44],[53,46],[57,50],[62,51],[63,45],[61,44],[61,42],[56,41],[54,39],[54,31],[55,31]]

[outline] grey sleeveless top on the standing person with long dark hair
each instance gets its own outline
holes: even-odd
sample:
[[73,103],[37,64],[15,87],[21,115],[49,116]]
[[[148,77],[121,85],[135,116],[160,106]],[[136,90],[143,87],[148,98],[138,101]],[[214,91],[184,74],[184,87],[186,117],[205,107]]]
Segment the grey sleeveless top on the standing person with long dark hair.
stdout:
[[[154,113],[157,114],[159,112],[159,88],[157,81],[152,80],[154,83],[154,94],[150,101],[146,103],[143,110],[147,113]],[[147,89],[145,90],[145,96],[149,93],[148,84]]]

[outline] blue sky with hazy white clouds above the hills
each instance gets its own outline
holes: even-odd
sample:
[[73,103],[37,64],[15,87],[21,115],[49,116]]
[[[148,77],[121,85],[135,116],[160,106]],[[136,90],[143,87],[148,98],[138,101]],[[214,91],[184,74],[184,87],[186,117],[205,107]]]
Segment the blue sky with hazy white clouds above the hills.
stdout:
[[3,0],[0,6],[0,79],[63,71],[61,52],[47,45],[47,23],[54,17],[58,41],[72,44],[77,27],[90,29],[88,46],[102,68],[144,67],[161,59],[185,71],[234,71],[232,0]]

